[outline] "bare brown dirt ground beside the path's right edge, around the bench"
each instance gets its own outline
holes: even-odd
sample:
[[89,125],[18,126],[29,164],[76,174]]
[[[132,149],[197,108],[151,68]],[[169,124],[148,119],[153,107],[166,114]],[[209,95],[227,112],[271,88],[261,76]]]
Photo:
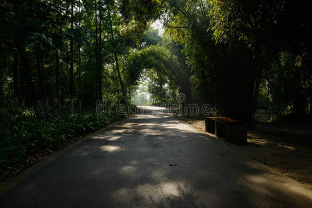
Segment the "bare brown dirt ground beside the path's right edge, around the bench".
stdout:
[[[205,121],[184,117],[181,119],[192,125],[193,128],[205,132]],[[262,125],[259,127],[263,128]],[[272,129],[272,127],[270,128]],[[215,137],[208,132],[205,133]],[[231,145],[247,157],[312,189],[312,144],[311,142],[306,144],[297,142],[302,141],[298,137],[306,139],[306,131],[304,135],[296,135],[293,131],[286,135],[278,134],[276,131],[254,130],[248,131],[247,145]]]

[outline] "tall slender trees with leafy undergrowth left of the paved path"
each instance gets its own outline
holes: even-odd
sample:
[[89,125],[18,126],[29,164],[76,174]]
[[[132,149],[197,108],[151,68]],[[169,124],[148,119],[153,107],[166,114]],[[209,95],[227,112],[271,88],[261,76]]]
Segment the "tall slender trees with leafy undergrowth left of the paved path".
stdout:
[[126,59],[157,39],[141,41],[149,19],[134,24],[123,9],[110,0],[1,1],[0,173],[116,119],[95,104],[128,102]]

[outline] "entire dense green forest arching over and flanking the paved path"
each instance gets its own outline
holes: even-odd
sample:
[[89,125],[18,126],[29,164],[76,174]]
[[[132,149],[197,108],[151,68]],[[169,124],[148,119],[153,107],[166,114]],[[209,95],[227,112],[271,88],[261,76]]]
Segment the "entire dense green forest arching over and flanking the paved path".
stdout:
[[309,10],[290,0],[2,0],[0,171],[115,121],[95,112],[104,100],[167,105],[182,93],[250,128],[257,107],[312,116]]

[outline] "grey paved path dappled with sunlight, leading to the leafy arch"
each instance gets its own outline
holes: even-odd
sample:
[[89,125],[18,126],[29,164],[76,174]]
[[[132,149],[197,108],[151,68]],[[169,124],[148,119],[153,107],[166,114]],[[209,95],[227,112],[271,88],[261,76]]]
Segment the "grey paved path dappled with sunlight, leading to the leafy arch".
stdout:
[[312,207],[311,190],[154,110],[49,162],[0,207]]

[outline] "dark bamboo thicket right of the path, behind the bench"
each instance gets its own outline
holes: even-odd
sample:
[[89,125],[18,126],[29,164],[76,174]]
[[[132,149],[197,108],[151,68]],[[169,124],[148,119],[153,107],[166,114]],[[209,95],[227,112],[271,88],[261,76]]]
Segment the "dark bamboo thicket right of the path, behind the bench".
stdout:
[[[205,99],[221,114],[247,121],[252,121],[257,98],[258,104],[266,105],[269,97],[278,114],[312,115],[307,2],[166,2],[166,31],[183,46],[199,101]],[[284,62],[281,53],[300,61]],[[268,85],[261,86],[265,80]]]

